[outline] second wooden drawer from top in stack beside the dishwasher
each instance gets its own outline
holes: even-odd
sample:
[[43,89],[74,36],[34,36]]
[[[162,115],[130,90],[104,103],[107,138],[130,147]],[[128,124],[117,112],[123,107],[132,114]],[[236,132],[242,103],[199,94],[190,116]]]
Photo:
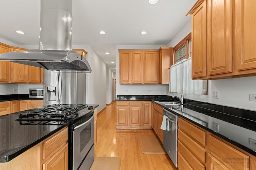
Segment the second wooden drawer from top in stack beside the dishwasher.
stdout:
[[188,150],[190,150],[190,152],[192,152],[192,154],[195,155],[199,160],[205,162],[206,150],[188,137],[188,135],[186,135],[180,129],[178,129],[178,140],[182,142],[182,144],[184,144],[186,148],[188,148]]

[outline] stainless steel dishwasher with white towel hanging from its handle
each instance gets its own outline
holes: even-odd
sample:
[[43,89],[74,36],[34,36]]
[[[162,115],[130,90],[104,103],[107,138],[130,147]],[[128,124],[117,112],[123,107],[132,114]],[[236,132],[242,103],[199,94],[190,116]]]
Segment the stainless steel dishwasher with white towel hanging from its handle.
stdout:
[[[164,130],[164,149],[171,158],[172,162],[177,165],[177,125],[178,116],[164,109],[166,118],[166,130]],[[164,116],[164,117],[165,117]]]

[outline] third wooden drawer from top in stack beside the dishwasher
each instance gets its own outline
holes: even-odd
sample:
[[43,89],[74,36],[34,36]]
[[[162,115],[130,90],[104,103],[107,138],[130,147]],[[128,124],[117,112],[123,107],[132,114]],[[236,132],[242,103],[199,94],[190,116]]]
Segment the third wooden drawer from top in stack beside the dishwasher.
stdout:
[[[205,166],[180,141],[178,141],[178,149],[179,149],[178,152],[180,154],[186,156],[186,162],[188,162],[188,164],[194,170],[204,170],[205,169]],[[180,160],[178,159],[178,161],[180,161]]]

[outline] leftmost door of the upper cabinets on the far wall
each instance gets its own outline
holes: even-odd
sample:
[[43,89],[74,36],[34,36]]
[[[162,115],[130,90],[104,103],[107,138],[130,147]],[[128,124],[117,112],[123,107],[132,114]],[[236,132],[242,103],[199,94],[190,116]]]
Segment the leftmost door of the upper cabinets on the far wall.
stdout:
[[132,57],[129,51],[120,52],[119,79],[120,84],[132,83]]

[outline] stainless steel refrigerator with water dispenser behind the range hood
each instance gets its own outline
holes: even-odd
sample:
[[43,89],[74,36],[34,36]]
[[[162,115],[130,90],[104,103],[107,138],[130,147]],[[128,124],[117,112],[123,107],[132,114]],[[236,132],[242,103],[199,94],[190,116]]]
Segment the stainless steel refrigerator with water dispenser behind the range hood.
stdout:
[[44,105],[86,104],[86,73],[44,70]]

